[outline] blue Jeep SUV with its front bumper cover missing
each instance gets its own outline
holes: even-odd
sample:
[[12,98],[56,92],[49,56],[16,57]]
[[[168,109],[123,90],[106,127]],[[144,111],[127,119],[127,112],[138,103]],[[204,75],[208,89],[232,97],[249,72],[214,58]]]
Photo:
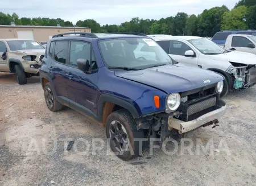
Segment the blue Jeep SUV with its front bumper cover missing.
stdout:
[[217,126],[226,107],[222,76],[177,63],[143,34],[55,35],[40,80],[49,110],[68,106],[101,123],[123,160],[148,139],[163,145],[172,134]]

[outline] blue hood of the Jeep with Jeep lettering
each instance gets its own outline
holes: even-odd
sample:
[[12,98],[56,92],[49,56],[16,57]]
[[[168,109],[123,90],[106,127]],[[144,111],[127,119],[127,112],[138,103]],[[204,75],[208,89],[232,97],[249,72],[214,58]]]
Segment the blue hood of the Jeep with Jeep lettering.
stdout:
[[141,71],[115,72],[115,76],[141,82],[166,93],[185,92],[223,80],[223,77],[215,72],[180,64],[147,68]]

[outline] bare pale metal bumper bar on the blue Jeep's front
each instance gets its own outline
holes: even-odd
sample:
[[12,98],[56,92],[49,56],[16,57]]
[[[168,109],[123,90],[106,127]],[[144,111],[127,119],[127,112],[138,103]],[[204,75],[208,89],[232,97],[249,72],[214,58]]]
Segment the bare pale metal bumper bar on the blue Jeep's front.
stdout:
[[215,119],[220,118],[226,112],[226,106],[222,106],[219,109],[210,111],[207,114],[201,115],[199,118],[196,118],[189,122],[183,122],[179,119],[173,117],[168,117],[168,126],[170,129],[177,129],[180,134],[187,133],[193,129],[201,127],[209,122],[214,121]]

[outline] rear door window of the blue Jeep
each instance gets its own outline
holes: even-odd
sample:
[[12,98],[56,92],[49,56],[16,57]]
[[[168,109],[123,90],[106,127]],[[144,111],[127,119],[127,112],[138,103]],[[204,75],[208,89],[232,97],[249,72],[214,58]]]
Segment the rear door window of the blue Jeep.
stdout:
[[59,63],[67,63],[68,59],[68,41],[55,42],[54,60]]

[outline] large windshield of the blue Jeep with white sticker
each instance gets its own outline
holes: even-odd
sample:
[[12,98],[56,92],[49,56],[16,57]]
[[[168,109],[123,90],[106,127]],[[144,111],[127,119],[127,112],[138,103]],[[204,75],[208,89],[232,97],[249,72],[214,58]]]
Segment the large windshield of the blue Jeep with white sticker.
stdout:
[[99,47],[107,67],[143,69],[147,66],[172,64],[171,57],[150,38],[102,40]]

